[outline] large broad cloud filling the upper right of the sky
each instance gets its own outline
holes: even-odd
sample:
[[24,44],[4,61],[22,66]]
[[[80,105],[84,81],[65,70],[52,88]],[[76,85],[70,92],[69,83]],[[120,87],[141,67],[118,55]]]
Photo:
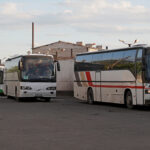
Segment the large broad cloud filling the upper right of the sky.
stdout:
[[[78,31],[87,32],[143,32],[145,25],[150,25],[147,17],[150,11],[143,5],[135,5],[130,1],[117,0],[76,0],[61,3],[64,9],[69,8],[70,14],[61,13],[58,18],[62,24],[68,24]],[[140,26],[140,27],[137,27]],[[137,31],[136,31],[137,29]]]

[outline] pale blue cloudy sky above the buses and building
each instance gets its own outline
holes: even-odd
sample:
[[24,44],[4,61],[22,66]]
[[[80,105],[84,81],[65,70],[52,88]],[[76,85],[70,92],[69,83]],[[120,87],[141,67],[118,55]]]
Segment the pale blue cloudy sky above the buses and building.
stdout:
[[59,40],[126,47],[150,44],[148,0],[0,0],[0,59]]

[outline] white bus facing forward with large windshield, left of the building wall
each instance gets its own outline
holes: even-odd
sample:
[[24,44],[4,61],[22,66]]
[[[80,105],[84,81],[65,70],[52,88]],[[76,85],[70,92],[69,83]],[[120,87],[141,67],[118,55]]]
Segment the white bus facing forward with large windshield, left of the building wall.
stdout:
[[7,59],[4,86],[4,94],[17,100],[35,97],[50,101],[51,97],[56,97],[56,67],[53,56],[37,54]]

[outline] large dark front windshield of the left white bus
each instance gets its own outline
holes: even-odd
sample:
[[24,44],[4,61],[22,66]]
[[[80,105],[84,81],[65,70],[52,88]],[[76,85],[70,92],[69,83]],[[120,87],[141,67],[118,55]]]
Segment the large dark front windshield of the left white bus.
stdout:
[[23,81],[53,81],[55,80],[54,63],[51,57],[24,57]]

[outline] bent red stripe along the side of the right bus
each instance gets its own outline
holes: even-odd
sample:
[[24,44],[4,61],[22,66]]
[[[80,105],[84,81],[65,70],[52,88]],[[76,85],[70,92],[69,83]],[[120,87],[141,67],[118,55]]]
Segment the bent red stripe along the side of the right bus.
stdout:
[[124,86],[124,85],[94,85],[92,82],[90,72],[86,72],[86,77],[88,80],[89,86],[92,87],[102,87],[102,88],[131,88],[131,89],[143,89],[144,86]]

